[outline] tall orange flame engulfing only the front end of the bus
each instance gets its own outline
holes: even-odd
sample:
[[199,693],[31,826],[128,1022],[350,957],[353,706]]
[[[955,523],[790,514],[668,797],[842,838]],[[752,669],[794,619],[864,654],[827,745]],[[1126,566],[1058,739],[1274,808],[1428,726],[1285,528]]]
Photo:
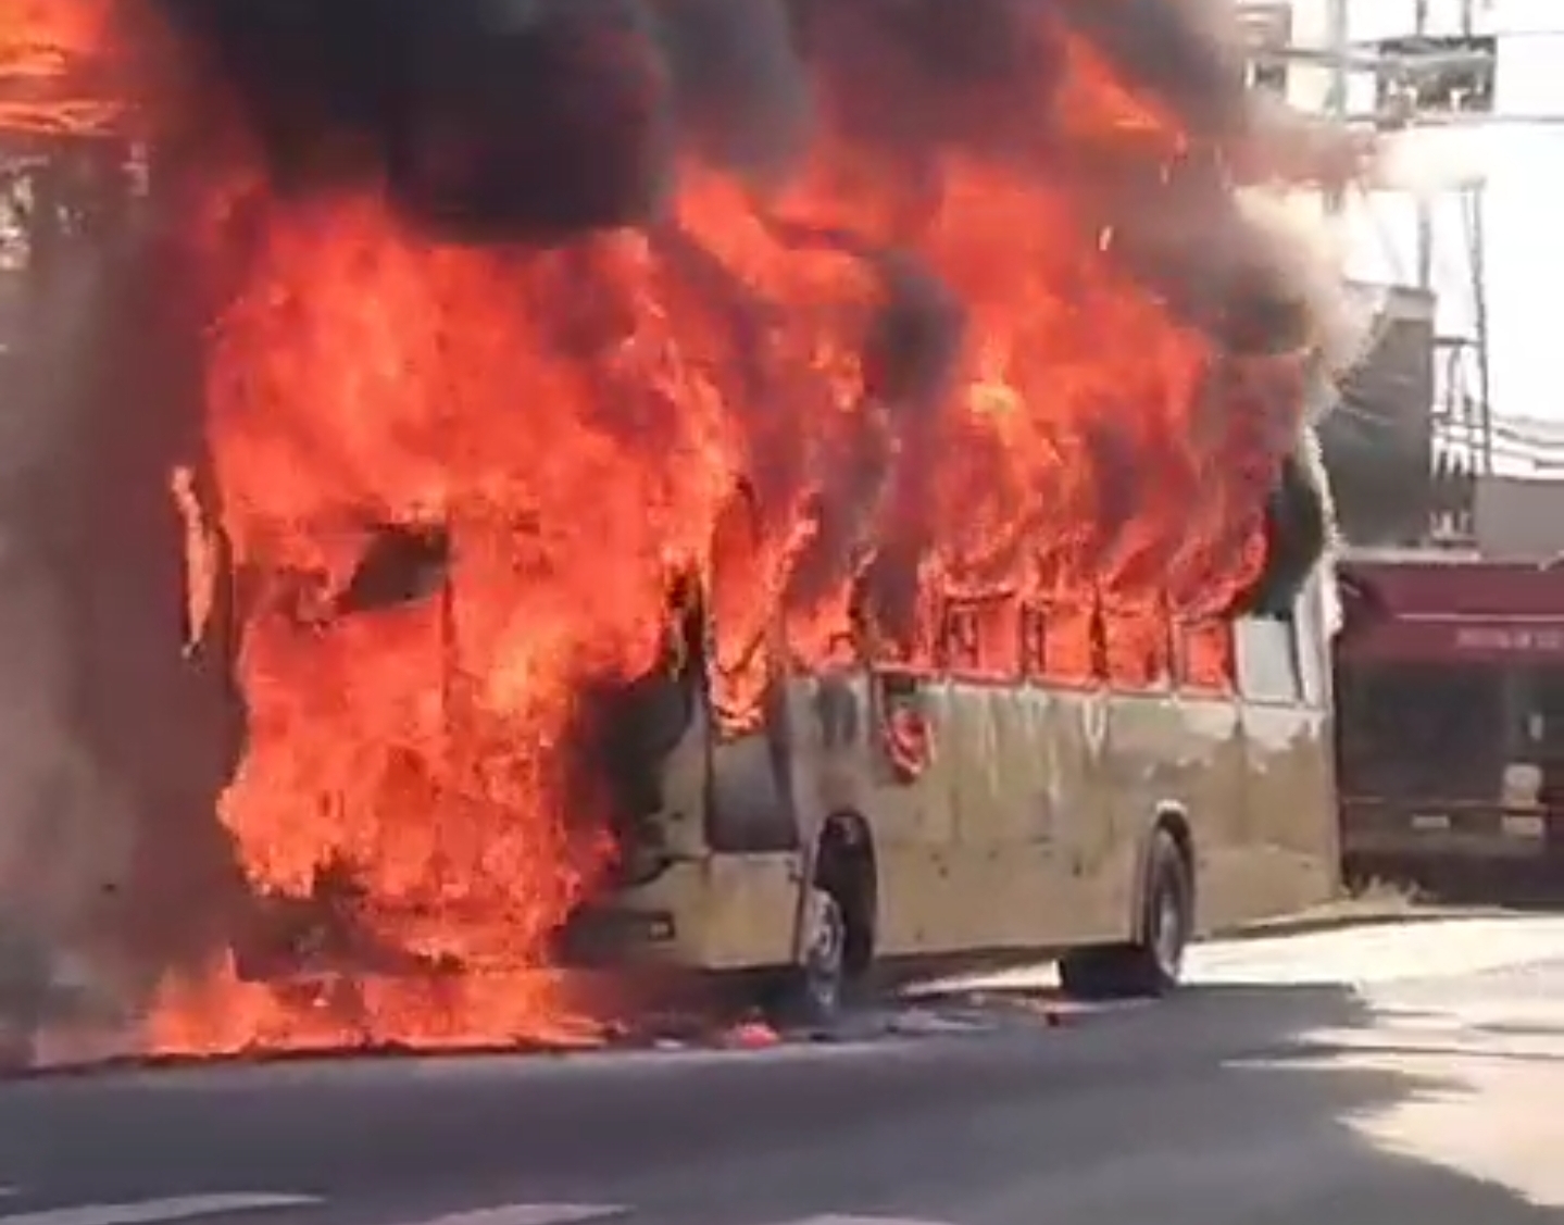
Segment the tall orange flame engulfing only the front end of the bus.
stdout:
[[[369,1009],[369,1036],[527,1036],[547,979],[496,976],[543,968],[608,850],[563,759],[574,695],[657,662],[732,432],[641,239],[430,250],[369,197],[277,207],[266,232],[208,386],[252,584],[250,738],[222,818],[258,890],[308,896],[335,871],[360,937],[486,975],[488,1015],[429,1033],[414,990],[410,1012]],[[544,335],[572,300],[594,361]],[[447,535],[441,596],[333,616],[386,526]]]

